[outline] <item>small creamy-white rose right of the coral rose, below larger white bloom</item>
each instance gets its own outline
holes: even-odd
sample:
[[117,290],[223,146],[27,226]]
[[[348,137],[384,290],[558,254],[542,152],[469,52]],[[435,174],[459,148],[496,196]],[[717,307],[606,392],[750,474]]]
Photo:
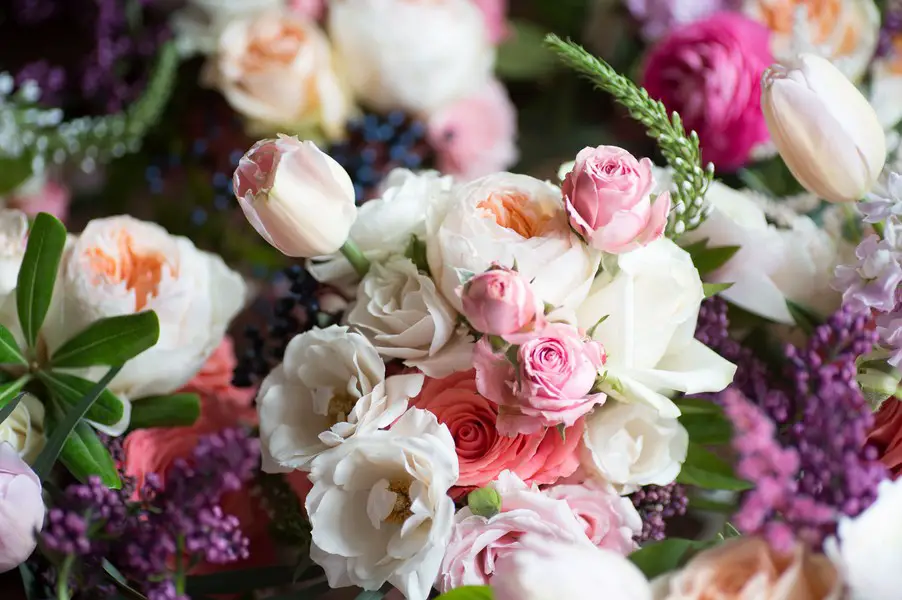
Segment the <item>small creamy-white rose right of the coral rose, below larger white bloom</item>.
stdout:
[[688,450],[689,434],[676,419],[642,404],[608,400],[586,420],[581,463],[587,472],[631,492],[673,483]]

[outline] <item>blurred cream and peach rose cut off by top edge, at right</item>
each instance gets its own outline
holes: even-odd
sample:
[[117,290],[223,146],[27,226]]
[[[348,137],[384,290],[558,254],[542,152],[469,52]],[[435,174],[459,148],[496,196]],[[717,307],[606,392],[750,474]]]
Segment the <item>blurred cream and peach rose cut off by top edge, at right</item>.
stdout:
[[[877,49],[880,13],[873,0],[745,0],[744,8],[773,32],[771,49],[784,64],[799,51],[815,51],[857,81]],[[799,39],[796,27],[800,10],[807,39]]]

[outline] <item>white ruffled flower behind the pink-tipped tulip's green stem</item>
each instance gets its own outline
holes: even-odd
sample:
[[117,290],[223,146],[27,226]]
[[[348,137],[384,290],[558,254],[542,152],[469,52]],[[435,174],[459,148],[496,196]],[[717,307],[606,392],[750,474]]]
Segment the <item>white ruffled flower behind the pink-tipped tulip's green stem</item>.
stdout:
[[[401,254],[416,235],[426,236],[426,211],[443,205],[454,180],[438,171],[414,173],[394,169],[383,180],[382,193],[357,209],[350,239],[371,261]],[[322,283],[330,283],[353,295],[357,273],[341,254],[308,261],[307,269]]]

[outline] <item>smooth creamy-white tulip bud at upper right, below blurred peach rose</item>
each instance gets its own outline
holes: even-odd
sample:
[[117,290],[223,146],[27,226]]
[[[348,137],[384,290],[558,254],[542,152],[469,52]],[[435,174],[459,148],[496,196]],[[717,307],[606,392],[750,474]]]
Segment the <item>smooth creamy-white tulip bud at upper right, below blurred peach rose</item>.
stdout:
[[829,202],[856,202],[886,162],[874,109],[830,61],[812,54],[800,66],[764,74],[761,108],[771,139],[805,189]]

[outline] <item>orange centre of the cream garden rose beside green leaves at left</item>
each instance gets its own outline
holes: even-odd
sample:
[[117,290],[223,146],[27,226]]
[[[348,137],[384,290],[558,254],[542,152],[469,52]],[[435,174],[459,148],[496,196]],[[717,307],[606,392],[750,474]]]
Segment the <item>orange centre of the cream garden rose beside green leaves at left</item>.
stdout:
[[147,306],[150,298],[159,292],[163,269],[175,270],[159,252],[140,252],[127,231],[120,231],[117,239],[116,255],[107,254],[102,248],[89,248],[85,255],[88,268],[109,283],[125,282],[125,289],[135,292],[135,310]]

